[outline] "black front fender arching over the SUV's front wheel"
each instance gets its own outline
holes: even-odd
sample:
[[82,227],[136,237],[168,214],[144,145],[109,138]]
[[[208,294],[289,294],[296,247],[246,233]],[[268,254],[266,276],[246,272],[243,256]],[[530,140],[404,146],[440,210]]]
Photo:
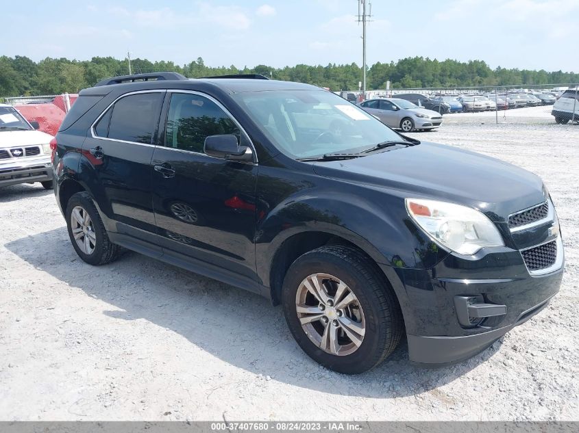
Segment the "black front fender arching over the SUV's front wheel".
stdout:
[[271,262],[286,239],[308,231],[341,237],[376,263],[393,267],[428,269],[447,256],[410,220],[400,198],[371,189],[364,194],[325,188],[316,193],[309,190],[283,200],[258,222],[258,268],[260,261]]

